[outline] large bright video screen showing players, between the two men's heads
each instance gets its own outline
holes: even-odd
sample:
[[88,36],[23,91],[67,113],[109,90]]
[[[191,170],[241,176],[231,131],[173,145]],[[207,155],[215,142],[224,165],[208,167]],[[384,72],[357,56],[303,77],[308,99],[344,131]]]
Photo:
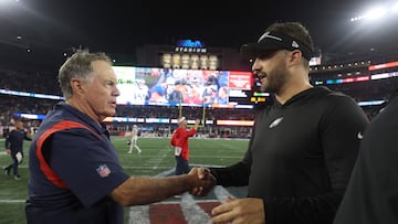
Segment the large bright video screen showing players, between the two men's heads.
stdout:
[[121,105],[228,105],[231,89],[250,89],[250,72],[113,66]]

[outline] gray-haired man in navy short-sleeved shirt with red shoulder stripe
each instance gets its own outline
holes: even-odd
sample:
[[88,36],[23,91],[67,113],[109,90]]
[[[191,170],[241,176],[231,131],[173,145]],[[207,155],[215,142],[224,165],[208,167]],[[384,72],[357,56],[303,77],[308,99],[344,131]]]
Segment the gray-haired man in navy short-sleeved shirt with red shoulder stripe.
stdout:
[[102,122],[115,115],[119,95],[108,56],[74,53],[61,66],[59,82],[65,102],[45,116],[30,147],[29,224],[122,224],[123,206],[161,201],[209,182],[196,168],[167,178],[129,177],[123,170]]

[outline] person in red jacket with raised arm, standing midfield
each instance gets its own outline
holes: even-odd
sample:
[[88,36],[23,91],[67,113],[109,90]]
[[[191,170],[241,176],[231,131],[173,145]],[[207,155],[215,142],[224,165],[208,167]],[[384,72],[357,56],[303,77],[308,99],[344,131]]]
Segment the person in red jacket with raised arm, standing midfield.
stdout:
[[187,129],[186,117],[180,117],[177,121],[178,128],[172,134],[170,145],[175,148],[176,175],[180,175],[189,172],[188,138],[197,132],[200,120],[197,119],[191,129]]

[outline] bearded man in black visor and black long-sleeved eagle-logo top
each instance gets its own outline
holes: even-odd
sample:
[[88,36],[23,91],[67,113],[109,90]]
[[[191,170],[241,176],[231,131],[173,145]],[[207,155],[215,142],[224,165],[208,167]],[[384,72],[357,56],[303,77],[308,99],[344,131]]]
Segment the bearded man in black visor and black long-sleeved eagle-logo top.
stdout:
[[310,84],[313,41],[301,23],[274,23],[241,51],[275,100],[258,114],[243,159],[210,169],[213,184],[248,185],[248,198],[211,211],[212,222],[331,224],[366,115],[352,97]]

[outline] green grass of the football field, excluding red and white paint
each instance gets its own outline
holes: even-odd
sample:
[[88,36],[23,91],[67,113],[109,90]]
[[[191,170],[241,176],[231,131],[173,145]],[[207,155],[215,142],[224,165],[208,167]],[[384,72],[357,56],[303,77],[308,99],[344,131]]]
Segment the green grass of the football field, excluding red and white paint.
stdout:
[[[169,138],[139,138],[138,146],[143,150],[127,153],[127,138],[114,137],[112,141],[119,154],[122,166],[132,175],[157,175],[175,168],[172,148]],[[248,147],[248,140],[239,139],[189,139],[191,166],[228,166],[239,161]],[[21,180],[15,181],[11,175],[0,173],[0,224],[23,224],[24,201],[28,195],[28,149],[24,142],[25,159],[19,167]],[[0,139],[1,167],[12,162],[10,156],[4,154],[4,139]],[[126,216],[127,223],[127,216]]]

